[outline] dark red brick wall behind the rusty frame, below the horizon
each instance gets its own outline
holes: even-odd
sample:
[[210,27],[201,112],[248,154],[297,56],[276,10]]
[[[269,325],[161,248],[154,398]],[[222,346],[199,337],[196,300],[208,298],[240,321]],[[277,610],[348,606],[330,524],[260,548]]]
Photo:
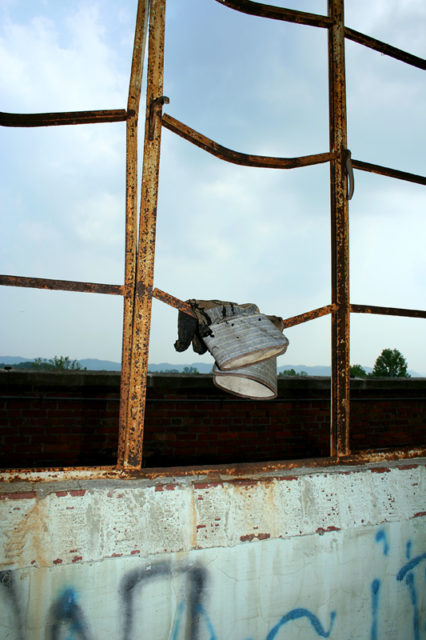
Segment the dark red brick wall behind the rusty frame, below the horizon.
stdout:
[[[426,381],[352,380],[353,450],[425,443]],[[0,467],[115,463],[119,375],[0,372]],[[279,397],[246,401],[210,376],[150,375],[145,466],[328,455],[330,380],[280,378]]]

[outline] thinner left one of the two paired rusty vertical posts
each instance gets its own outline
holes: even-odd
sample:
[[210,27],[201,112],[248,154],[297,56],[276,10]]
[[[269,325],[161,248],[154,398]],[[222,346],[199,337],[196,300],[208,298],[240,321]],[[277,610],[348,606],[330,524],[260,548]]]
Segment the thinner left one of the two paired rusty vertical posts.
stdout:
[[126,123],[126,246],[123,300],[123,338],[121,350],[120,416],[117,464],[123,466],[125,457],[130,370],[132,360],[133,309],[136,284],[136,256],[138,242],[138,118],[142,89],[142,75],[149,20],[149,0],[139,0],[133,44],[127,110],[132,115]]

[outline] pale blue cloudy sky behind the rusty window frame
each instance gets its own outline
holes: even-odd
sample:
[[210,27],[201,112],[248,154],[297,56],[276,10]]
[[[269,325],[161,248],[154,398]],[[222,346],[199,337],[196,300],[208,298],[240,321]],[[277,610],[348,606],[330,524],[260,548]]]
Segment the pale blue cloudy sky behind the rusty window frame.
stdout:
[[[126,108],[136,1],[2,0],[2,111]],[[326,13],[326,2],[279,6]],[[346,2],[346,26],[426,57],[423,0]],[[165,111],[241,152],[328,151],[327,34],[168,0]],[[346,41],[352,157],[426,173],[423,72]],[[143,101],[141,121],[143,122]],[[142,138],[140,139],[142,157]],[[122,284],[125,124],[0,129],[0,272]],[[178,298],[255,302],[290,317],[330,303],[328,164],[225,163],[163,129],[155,286]],[[354,304],[425,308],[426,191],[355,172]],[[120,361],[119,296],[0,287],[0,354]],[[153,301],[150,362],[178,354],[177,312]],[[278,364],[330,364],[330,317],[286,330]],[[426,375],[421,319],[351,315],[351,364],[397,348]]]

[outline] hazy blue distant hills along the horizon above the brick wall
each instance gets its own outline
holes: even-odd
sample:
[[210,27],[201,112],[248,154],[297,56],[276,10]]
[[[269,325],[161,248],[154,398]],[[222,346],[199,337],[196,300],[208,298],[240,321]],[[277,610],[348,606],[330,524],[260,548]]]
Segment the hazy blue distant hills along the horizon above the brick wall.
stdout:
[[[34,359],[32,358],[23,358],[21,356],[0,356],[0,369],[3,369],[4,366],[11,366],[12,368],[18,369],[29,369],[31,368],[31,362]],[[78,361],[82,367],[86,367],[88,371],[120,371],[121,364],[119,362],[113,362],[112,360],[98,360],[97,358],[84,358]],[[185,368],[197,369],[199,373],[211,373],[213,366],[212,363],[208,362],[191,362],[184,364],[176,364],[172,362],[159,362],[152,363],[148,365],[148,371],[151,373],[159,373],[159,372],[167,372],[173,371],[177,373],[182,373]],[[301,373],[305,371],[308,376],[330,376],[331,375],[331,367],[330,366],[309,366],[305,364],[285,364],[281,365],[277,369],[277,373],[281,373],[281,371],[285,371],[286,369],[294,369],[296,373]],[[367,373],[372,371],[371,367],[364,367]],[[416,371],[408,370],[408,373],[413,378],[422,378],[426,377],[424,374],[417,373]]]

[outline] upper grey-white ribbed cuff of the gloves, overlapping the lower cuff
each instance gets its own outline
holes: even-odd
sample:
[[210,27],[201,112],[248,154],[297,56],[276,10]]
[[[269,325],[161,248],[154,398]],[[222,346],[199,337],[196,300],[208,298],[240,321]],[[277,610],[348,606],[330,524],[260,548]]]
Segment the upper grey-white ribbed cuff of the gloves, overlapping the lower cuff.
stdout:
[[269,360],[288,346],[287,338],[262,313],[224,318],[210,329],[212,335],[203,340],[222,371]]

